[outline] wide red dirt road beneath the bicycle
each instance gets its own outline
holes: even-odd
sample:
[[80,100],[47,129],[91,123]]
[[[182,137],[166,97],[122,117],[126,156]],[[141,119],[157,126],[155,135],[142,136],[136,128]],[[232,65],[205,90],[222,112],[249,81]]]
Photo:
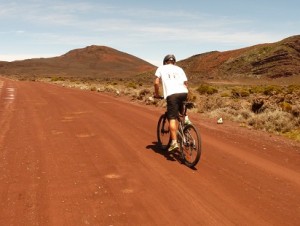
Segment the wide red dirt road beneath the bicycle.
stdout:
[[190,115],[193,170],[157,150],[163,111],[0,78],[0,225],[299,225],[299,143]]

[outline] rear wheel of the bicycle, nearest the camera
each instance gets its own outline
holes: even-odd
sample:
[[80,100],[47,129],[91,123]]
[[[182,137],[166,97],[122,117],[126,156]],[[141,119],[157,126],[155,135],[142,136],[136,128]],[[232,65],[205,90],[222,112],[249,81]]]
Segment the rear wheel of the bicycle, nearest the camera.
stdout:
[[194,125],[187,125],[183,129],[185,142],[182,142],[180,149],[183,155],[183,163],[188,167],[194,167],[201,156],[201,136]]

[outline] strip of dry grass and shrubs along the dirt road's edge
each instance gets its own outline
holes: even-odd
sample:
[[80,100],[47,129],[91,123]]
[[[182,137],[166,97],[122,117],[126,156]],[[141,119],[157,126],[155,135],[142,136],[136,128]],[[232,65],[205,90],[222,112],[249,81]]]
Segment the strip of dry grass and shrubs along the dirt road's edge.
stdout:
[[[32,79],[31,79],[32,80]],[[64,87],[127,96],[141,104],[165,107],[153,99],[149,79],[78,79],[49,77],[35,79]],[[230,85],[199,83],[189,87],[193,112],[204,117],[233,121],[240,126],[284,135],[300,141],[300,85]]]

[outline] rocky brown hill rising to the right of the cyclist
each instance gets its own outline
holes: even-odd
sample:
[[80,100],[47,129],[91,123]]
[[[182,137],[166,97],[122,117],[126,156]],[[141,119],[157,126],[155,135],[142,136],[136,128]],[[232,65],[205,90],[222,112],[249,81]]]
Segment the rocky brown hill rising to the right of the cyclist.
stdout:
[[192,80],[300,81],[300,35],[226,52],[208,52],[178,62]]

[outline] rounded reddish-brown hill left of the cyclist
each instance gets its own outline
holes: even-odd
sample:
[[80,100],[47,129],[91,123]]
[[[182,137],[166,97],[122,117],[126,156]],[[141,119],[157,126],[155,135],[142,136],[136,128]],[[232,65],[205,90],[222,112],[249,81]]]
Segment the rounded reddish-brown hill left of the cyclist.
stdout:
[[155,66],[105,46],[88,46],[53,58],[0,62],[0,74],[14,76],[130,77]]

